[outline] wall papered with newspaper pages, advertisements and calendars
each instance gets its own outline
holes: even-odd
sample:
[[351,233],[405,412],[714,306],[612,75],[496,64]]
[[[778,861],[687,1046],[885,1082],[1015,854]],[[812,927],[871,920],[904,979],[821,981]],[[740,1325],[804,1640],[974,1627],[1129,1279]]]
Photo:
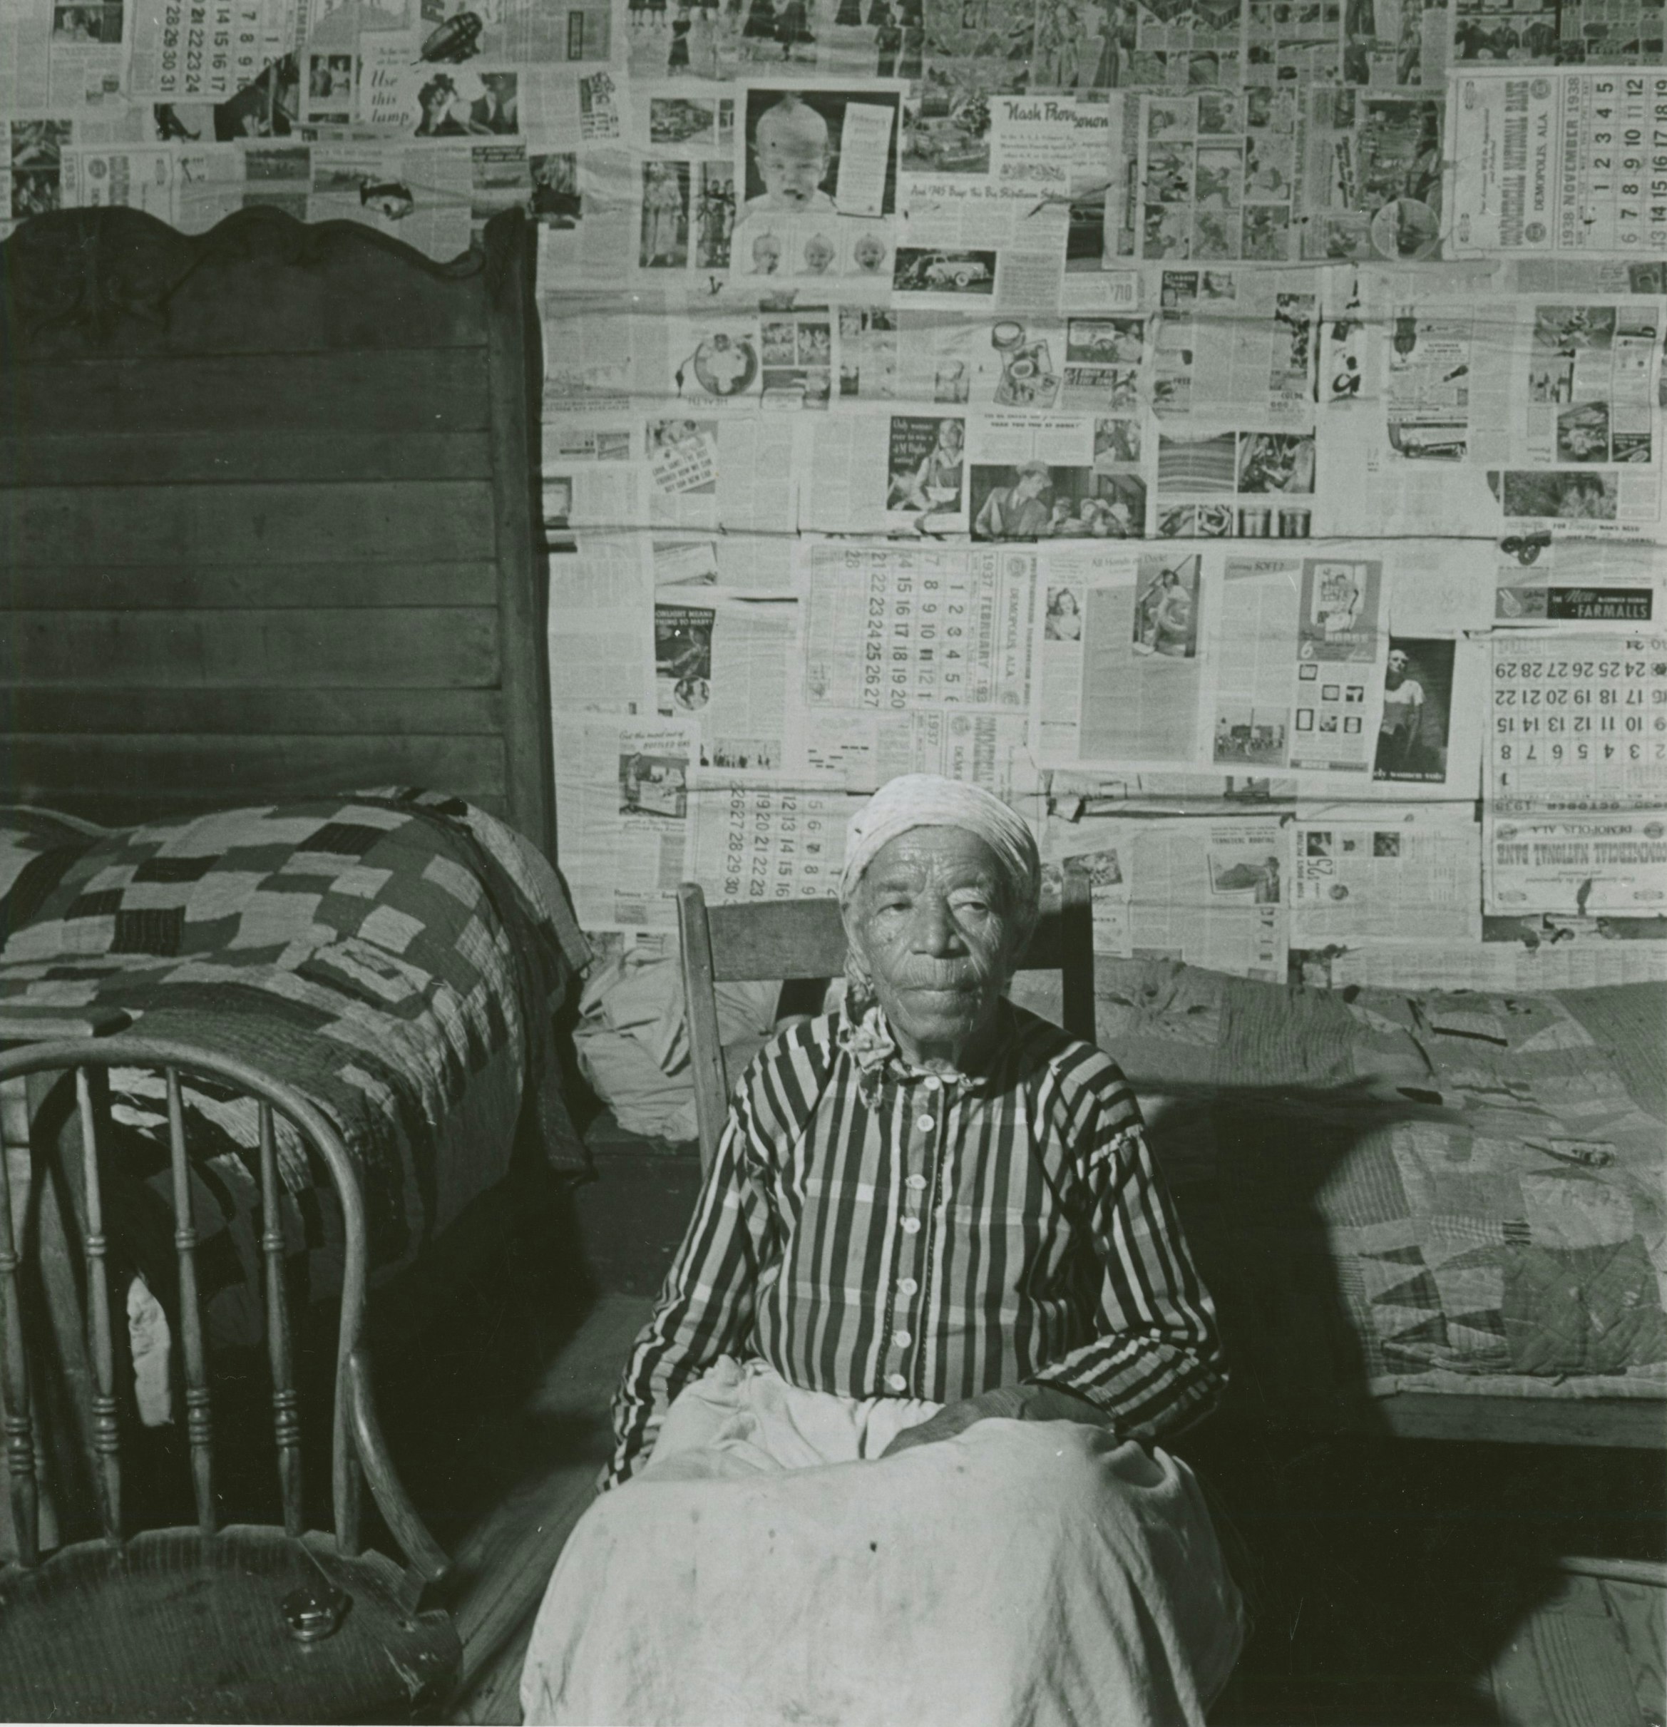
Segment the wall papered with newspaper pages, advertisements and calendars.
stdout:
[[529,212],[598,933],[931,770],[1104,953],[1667,976],[1660,19],[19,0],[0,218]]

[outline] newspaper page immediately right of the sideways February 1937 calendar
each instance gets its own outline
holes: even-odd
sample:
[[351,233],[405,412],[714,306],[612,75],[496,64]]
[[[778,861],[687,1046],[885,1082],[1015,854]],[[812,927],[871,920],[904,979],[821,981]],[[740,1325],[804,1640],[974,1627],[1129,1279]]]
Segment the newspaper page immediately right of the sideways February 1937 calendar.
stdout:
[[[1183,547],[1047,547],[1036,641],[1043,763],[1195,758],[1204,560]],[[1218,556],[1211,577],[1220,580]]]

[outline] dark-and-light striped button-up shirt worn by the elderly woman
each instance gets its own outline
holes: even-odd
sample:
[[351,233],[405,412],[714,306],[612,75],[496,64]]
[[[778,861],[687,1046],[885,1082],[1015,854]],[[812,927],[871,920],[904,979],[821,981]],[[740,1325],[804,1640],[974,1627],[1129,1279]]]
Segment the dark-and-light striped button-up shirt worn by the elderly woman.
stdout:
[[719,1356],[845,1397],[1061,1385],[1130,1439],[1225,1383],[1214,1309],[1116,1062],[1012,1003],[971,1074],[909,1071],[840,1014],[734,1088],[613,1401],[605,1485]]

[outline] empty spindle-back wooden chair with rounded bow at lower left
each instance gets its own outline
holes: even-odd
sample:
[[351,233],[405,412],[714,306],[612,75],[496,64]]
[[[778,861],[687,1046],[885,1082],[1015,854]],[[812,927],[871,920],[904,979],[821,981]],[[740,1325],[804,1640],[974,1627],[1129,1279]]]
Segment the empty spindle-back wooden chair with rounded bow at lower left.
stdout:
[[[183,1357],[185,1439],[195,1527],[128,1535],[123,1451],[131,1385],[117,1378],[107,1235],[107,1173],[100,1126],[109,1123],[107,1069],[161,1069],[168,1097],[168,1159],[178,1311],[169,1313]],[[218,1720],[349,1722],[435,1713],[454,1684],[461,1646],[423,1592],[446,1572],[446,1556],[423,1528],[389,1461],[371,1399],[361,1338],[366,1237],[359,1186],[330,1123],[304,1097],[238,1060],[136,1034],[31,1043],[0,1055],[0,1081],[67,1071],[74,1123],[60,1145],[29,1147],[29,1199],[16,1185],[0,1143],[0,1408],[17,1558],[0,1566],[0,1717],[9,1720]],[[259,1249],[266,1283],[266,1357],[271,1371],[271,1466],[283,1527],[219,1521],[216,1421],[199,1302],[197,1233],[187,1161],[183,1079],[237,1086],[257,1104]],[[104,1107],[100,1107],[104,1105]],[[321,1468],[302,1449],[297,1351],[285,1299],[278,1209],[276,1117],[323,1159],[342,1218],[342,1304],[330,1416],[333,1532],[307,1530],[302,1468]],[[36,1114],[40,1119],[40,1114]],[[74,1145],[76,1133],[79,1145]],[[48,1164],[55,1161],[54,1171]],[[41,1266],[41,1214],[48,1183],[71,1193],[73,1219],[57,1235],[79,1237],[79,1307],[85,1364],[62,1364],[50,1349],[66,1266]],[[59,1202],[62,1204],[62,1200]],[[73,1223],[73,1228],[71,1228]],[[48,1245],[50,1252],[50,1245]],[[55,1294],[36,1297],[47,1288]],[[62,1323],[62,1314],[57,1316]],[[59,1333],[62,1337],[62,1333]],[[71,1330],[73,1335],[73,1330]],[[59,1380],[43,1363],[60,1357]],[[131,1368],[128,1370],[131,1373]],[[90,1383],[88,1383],[90,1382]],[[62,1435],[47,1414],[71,1408],[81,1430],[102,1535],[41,1554],[43,1489],[62,1490],[36,1456],[50,1458]],[[45,1478],[43,1478],[45,1473]],[[361,1489],[370,1482],[382,1518],[408,1556],[401,1570],[361,1542]]]

